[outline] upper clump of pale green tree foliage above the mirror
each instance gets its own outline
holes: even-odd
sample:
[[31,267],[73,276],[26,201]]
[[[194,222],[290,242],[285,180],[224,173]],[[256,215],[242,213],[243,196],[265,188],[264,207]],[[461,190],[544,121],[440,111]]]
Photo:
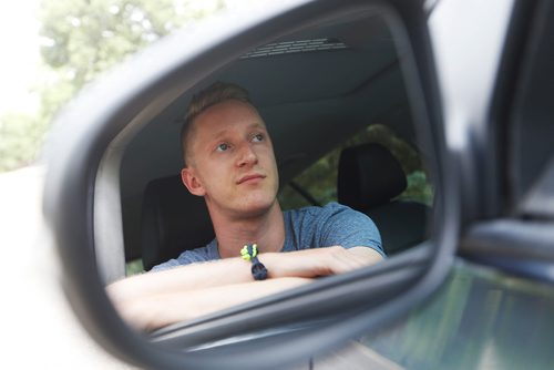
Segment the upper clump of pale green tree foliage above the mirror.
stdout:
[[[223,3],[216,4],[223,8]],[[206,16],[187,0],[43,0],[44,62],[75,90],[163,35]]]

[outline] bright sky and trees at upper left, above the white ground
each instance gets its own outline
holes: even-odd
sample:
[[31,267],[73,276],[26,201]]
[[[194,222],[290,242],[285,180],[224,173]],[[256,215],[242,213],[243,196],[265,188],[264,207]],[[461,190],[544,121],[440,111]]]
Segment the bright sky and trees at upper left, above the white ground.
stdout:
[[0,173],[40,160],[53,117],[86,83],[182,28],[245,0],[0,2]]

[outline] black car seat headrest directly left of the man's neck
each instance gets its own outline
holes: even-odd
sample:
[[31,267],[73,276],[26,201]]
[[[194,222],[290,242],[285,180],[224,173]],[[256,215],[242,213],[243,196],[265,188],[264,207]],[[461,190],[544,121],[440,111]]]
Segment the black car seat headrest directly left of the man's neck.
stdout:
[[178,175],[148,183],[141,224],[145,270],[186,249],[205,246],[214,238],[204,198],[188,193]]

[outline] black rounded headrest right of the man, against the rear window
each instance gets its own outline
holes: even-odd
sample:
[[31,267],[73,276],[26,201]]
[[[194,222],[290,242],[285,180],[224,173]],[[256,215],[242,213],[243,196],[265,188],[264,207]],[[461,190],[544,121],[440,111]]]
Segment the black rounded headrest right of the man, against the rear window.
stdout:
[[400,163],[384,146],[367,143],[340,153],[338,201],[355,209],[366,209],[400,195],[407,186]]

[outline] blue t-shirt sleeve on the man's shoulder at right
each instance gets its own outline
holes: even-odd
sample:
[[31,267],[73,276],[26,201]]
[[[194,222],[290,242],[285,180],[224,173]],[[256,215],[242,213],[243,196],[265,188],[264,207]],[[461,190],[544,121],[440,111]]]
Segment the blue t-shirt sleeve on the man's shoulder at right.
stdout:
[[367,215],[338,203],[329,203],[321,213],[319,244],[322,247],[369,247],[386,257],[381,235]]

